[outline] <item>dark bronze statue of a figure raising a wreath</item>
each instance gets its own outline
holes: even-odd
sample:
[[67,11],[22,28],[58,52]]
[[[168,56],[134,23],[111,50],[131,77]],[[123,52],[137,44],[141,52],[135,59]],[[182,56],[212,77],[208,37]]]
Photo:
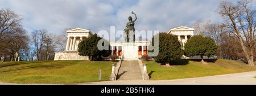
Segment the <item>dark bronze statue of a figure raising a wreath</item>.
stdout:
[[123,37],[125,39],[125,42],[135,42],[135,28],[134,28],[134,22],[137,20],[137,15],[135,12],[131,12],[131,14],[135,15],[135,20],[129,16],[129,22],[126,24],[126,28],[124,29]]

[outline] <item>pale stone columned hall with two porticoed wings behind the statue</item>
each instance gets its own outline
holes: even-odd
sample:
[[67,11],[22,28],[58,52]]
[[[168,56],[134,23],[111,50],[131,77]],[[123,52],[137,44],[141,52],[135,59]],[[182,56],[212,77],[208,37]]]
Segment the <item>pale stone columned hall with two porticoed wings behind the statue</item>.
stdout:
[[[185,42],[194,36],[193,28],[188,27],[177,27],[174,29],[170,29],[168,34],[177,35],[179,41],[181,41],[181,46],[184,49]],[[77,47],[78,43],[84,37],[88,37],[92,35],[90,30],[76,28],[67,30],[68,33],[68,40],[66,50],[63,52],[55,53],[54,60],[88,60],[88,56],[80,56]],[[131,58],[138,59],[141,58],[142,55],[148,53],[148,46],[150,45],[150,41],[135,41],[133,48],[127,46],[124,42],[109,42],[110,44],[110,51],[112,55],[118,55],[120,58],[125,58],[125,56],[133,56]],[[135,46],[135,47],[134,47]],[[183,56],[183,58],[187,58]]]

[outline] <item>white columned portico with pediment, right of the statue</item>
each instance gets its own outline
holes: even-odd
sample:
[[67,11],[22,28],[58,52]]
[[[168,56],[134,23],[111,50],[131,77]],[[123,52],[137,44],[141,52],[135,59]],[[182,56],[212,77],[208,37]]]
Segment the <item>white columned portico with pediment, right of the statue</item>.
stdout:
[[176,36],[178,36],[179,41],[181,42],[181,46],[182,49],[184,49],[184,45],[185,43],[189,40],[189,38],[191,38],[192,36],[194,36],[194,30],[193,28],[188,28],[188,27],[177,27],[174,29],[170,29],[168,31],[168,34],[174,34]]

